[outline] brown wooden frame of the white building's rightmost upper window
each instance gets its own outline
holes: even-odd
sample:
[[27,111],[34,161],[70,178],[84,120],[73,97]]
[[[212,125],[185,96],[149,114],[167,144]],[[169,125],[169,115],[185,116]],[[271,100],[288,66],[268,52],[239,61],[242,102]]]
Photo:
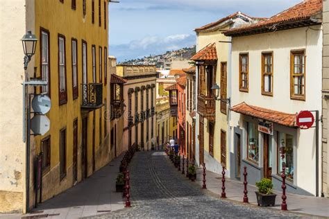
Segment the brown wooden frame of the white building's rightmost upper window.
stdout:
[[[298,76],[298,74],[294,73],[294,55],[304,55],[304,73],[299,74],[303,75],[304,80],[304,89],[303,89],[303,95],[296,95],[294,94],[294,76]],[[290,51],[290,99],[292,100],[306,100],[306,51],[305,49],[299,49],[299,50],[292,50]]]

